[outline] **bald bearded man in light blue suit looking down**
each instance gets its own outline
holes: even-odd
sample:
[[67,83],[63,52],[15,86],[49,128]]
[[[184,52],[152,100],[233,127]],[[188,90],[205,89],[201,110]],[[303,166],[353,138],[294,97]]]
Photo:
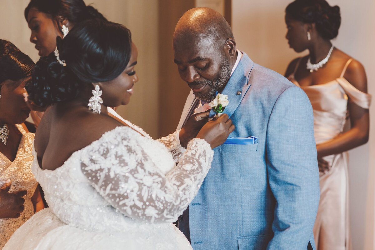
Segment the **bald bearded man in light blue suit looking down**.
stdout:
[[224,113],[236,126],[230,136],[237,139],[214,148],[198,195],[179,217],[193,249],[315,250],[320,190],[306,94],[238,51],[214,10],[186,12],[173,45],[180,76],[192,88],[178,129],[205,110],[202,100],[216,90],[228,95]]

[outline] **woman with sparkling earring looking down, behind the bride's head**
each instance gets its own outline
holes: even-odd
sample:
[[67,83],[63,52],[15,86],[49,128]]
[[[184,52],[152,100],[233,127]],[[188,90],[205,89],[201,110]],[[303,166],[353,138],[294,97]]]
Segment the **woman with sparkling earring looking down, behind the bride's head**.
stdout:
[[[53,52],[56,37],[64,38],[75,24],[95,18],[107,20],[83,0],[31,0],[24,15],[31,30],[30,42],[35,44],[40,56]],[[42,116],[43,112],[31,111],[36,127]]]

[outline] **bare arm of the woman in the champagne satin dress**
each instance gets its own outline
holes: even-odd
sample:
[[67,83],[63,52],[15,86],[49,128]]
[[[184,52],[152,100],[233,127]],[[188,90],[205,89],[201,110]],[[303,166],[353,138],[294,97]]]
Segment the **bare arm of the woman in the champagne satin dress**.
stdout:
[[[367,78],[362,64],[353,60],[344,75],[354,87],[367,93]],[[365,144],[369,139],[369,109],[361,108],[350,98],[348,102],[351,129],[334,139],[317,145],[318,158],[338,154]]]

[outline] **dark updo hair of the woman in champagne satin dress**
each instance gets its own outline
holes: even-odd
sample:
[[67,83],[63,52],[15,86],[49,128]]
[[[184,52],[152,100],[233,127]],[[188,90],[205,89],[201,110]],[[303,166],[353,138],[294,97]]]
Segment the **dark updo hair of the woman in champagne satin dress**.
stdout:
[[330,6],[326,0],[296,0],[285,12],[294,20],[315,23],[315,28],[324,39],[333,39],[341,24],[340,7]]

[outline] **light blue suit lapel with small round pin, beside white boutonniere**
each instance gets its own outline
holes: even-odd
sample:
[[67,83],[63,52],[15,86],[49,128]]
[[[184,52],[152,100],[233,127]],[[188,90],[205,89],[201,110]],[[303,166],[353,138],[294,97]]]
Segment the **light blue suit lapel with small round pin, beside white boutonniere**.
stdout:
[[[242,51],[241,51],[242,52]],[[246,92],[249,90],[251,84],[249,84],[249,75],[254,67],[253,61],[242,52],[243,57],[240,63],[234,70],[231,78],[229,78],[228,83],[222,91],[222,94],[228,95],[229,104],[225,107],[224,112],[231,117],[231,115],[236,111],[237,107],[240,105]],[[213,117],[216,112],[210,112],[210,117]]]

